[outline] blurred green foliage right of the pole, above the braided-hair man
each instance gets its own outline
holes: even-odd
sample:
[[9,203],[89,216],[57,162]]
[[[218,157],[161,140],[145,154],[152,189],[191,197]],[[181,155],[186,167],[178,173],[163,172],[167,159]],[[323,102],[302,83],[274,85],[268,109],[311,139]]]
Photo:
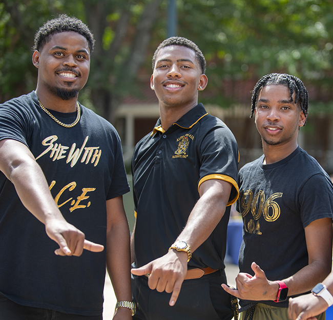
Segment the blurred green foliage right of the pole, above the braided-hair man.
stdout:
[[330,0],[182,0],[178,5],[180,33],[202,48],[210,85],[255,83],[264,74],[287,72],[315,86],[316,99],[333,98]]

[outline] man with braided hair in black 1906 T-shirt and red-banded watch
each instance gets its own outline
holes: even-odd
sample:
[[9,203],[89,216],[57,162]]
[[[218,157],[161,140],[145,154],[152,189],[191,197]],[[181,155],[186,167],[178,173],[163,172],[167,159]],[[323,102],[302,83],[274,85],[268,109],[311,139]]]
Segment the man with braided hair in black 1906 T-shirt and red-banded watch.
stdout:
[[264,154],[239,172],[240,273],[237,290],[222,285],[240,299],[241,319],[287,320],[287,297],[309,292],[331,270],[333,185],[297,144],[307,110],[295,76],[268,74],[253,90]]

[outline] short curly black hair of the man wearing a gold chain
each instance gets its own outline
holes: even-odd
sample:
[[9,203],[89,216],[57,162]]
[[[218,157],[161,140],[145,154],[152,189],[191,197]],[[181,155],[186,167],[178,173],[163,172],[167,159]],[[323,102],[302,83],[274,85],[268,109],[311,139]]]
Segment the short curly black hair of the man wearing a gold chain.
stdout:
[[33,50],[40,51],[45,44],[50,41],[50,37],[55,33],[74,31],[83,35],[89,45],[90,54],[94,50],[95,39],[87,25],[81,20],[70,17],[67,14],[60,14],[57,18],[47,21],[35,34]]

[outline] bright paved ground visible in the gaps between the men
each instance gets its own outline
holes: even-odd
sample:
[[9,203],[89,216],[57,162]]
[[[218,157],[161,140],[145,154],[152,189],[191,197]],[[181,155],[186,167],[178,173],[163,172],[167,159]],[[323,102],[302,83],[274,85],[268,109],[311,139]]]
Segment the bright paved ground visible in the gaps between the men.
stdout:
[[[225,272],[228,279],[228,284],[231,286],[236,286],[235,278],[238,274],[238,266],[233,264],[226,264]],[[114,308],[116,305],[116,297],[114,295],[114,291],[110,282],[110,278],[107,275],[105,288],[104,288],[104,312],[103,312],[103,320],[111,320]]]

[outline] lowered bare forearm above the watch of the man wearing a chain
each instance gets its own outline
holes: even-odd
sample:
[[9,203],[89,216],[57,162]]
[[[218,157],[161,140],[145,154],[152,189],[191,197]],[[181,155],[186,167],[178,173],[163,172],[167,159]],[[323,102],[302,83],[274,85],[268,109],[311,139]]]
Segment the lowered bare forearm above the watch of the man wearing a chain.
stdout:
[[127,219],[117,222],[107,232],[107,270],[117,301],[132,301]]

